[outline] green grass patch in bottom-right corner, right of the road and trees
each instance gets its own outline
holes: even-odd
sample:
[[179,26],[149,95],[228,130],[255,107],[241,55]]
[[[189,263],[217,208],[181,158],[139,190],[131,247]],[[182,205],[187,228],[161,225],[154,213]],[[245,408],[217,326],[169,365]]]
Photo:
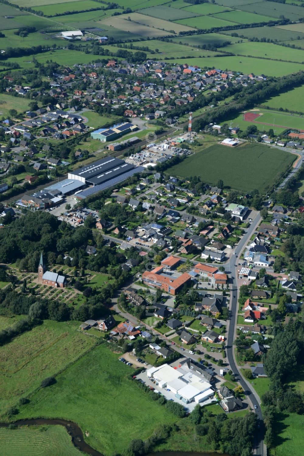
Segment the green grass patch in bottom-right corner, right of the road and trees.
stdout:
[[271,453],[273,456],[302,456],[304,448],[304,415],[284,413],[275,423],[280,443]]

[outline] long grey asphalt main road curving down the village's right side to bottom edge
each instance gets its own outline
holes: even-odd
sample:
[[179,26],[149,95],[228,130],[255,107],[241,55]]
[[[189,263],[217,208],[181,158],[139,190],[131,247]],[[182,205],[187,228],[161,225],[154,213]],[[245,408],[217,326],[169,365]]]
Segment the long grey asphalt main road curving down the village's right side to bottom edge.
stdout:
[[[258,416],[258,420],[262,422],[263,415],[262,409],[260,406],[260,399],[258,394],[253,389],[252,385],[248,383],[241,375],[237,369],[237,365],[234,358],[234,347],[233,341],[235,339],[236,327],[237,327],[237,298],[238,298],[238,289],[237,289],[237,264],[240,254],[247,244],[248,240],[251,238],[252,233],[254,233],[255,228],[261,222],[261,216],[258,213],[256,217],[252,220],[250,227],[247,230],[247,233],[242,237],[239,244],[235,249],[235,254],[232,255],[231,259],[226,264],[226,272],[231,272],[232,276],[232,299],[231,299],[231,312],[230,320],[228,326],[228,337],[227,337],[227,357],[230,364],[232,372],[235,374],[237,381],[241,384],[242,388],[245,391],[245,394],[249,401],[252,403],[254,412]],[[256,407],[256,408],[255,408]],[[254,444],[254,453],[257,456],[266,456],[263,442],[263,426],[258,429],[258,434],[256,435],[256,440]]]

